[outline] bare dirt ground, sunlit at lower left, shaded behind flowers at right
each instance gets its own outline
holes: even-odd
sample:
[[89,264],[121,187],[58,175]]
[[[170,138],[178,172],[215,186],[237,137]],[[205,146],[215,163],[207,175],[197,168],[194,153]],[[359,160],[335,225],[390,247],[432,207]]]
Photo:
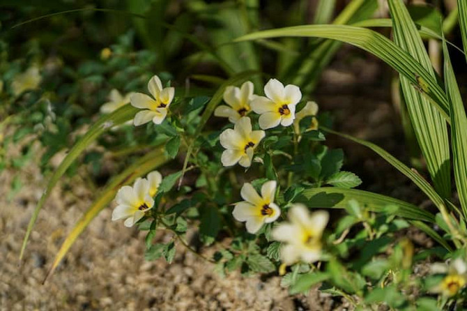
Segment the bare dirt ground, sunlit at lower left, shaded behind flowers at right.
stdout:
[[[350,48],[339,53],[348,55]],[[372,139],[404,158],[399,117],[390,103],[391,72],[362,54],[339,61],[323,74],[316,93],[321,111],[336,116],[336,128]],[[361,188],[420,204],[406,179],[365,148],[329,137],[344,148],[345,168],[362,177]],[[401,145],[402,144],[402,145]],[[144,233],[112,222],[102,211],[73,245],[45,285],[42,281],[63,238],[92,202],[79,182],[59,184],[40,213],[25,260],[17,257],[29,218],[47,182],[36,164],[20,172],[24,187],[8,202],[12,171],[0,175],[0,310],[346,310],[339,300],[312,290],[289,296],[280,278],[220,278],[213,266],[178,247],[173,264],[144,261]],[[170,236],[162,233],[158,238]]]

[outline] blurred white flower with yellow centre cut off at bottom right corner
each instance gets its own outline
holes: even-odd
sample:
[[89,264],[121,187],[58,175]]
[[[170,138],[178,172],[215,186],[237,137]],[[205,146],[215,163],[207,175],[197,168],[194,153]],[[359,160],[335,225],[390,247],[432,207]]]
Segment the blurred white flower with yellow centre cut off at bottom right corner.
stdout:
[[431,266],[431,272],[447,273],[441,283],[431,289],[431,292],[441,293],[445,297],[452,297],[467,285],[467,264],[460,258],[451,261],[449,266],[434,264]]

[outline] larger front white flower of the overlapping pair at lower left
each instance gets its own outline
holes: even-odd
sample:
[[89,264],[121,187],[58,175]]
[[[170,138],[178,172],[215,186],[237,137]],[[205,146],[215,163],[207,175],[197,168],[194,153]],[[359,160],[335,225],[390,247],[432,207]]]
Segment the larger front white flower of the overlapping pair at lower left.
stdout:
[[112,220],[126,218],[125,227],[132,227],[143,218],[144,213],[154,206],[154,199],[149,194],[149,182],[147,179],[137,179],[130,187],[125,185],[118,190],[116,202],[118,206],[112,213]]

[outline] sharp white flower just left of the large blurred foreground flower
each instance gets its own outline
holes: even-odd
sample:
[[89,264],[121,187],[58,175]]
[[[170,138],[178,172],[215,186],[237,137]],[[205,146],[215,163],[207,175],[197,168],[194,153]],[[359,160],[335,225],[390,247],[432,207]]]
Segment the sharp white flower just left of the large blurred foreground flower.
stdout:
[[261,197],[250,183],[245,183],[240,195],[245,201],[235,204],[232,215],[238,221],[246,222],[247,232],[254,234],[264,223],[270,223],[280,216],[280,208],[274,203],[276,181],[267,181],[261,187]]

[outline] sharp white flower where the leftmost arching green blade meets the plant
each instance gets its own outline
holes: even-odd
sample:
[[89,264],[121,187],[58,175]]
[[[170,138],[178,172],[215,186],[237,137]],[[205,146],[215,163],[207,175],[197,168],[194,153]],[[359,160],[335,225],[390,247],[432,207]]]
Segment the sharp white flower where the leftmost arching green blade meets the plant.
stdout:
[[160,124],[167,116],[167,109],[174,99],[175,89],[166,87],[162,89],[162,82],[157,75],[154,75],[148,82],[149,93],[153,96],[147,96],[143,93],[135,93],[130,96],[131,105],[140,109],[135,116],[135,126],[153,121],[155,124]]

